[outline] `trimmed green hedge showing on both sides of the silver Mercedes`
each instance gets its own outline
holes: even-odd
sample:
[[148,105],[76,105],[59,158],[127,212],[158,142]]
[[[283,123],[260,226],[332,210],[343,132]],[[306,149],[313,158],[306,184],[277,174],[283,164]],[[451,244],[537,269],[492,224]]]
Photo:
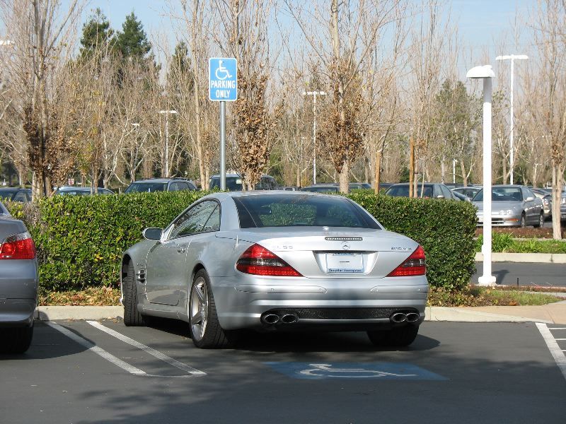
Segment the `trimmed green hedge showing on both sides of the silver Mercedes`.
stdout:
[[[164,228],[207,192],[156,192],[113,196],[54,196],[39,204],[10,204],[37,245],[44,290],[116,287],[120,257],[146,227]],[[432,285],[463,288],[474,270],[475,209],[471,204],[350,194],[388,230],[419,242]]]

